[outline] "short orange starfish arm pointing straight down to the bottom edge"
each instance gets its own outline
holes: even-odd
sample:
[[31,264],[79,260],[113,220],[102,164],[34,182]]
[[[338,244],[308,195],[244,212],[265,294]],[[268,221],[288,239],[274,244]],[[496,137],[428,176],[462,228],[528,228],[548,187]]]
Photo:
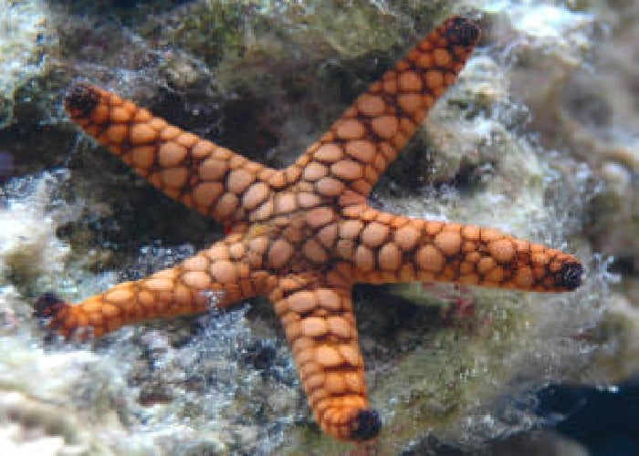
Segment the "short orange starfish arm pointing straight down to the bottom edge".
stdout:
[[321,429],[339,440],[370,440],[381,422],[366,393],[351,288],[321,282],[288,276],[269,297]]

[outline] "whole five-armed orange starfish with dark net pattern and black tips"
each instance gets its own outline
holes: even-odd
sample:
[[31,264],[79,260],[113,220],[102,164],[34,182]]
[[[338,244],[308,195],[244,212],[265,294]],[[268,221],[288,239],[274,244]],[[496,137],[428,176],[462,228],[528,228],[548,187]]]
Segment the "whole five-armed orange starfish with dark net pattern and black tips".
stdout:
[[310,407],[339,440],[374,438],[351,288],[443,281],[570,291],[571,254],[490,228],[408,218],[366,197],[456,80],[477,44],[471,20],[447,19],[346,109],[299,160],[270,169],[198,138],[104,89],[77,84],[66,109],[162,192],[225,225],[227,235],[172,268],[77,305],[43,295],[35,315],[64,337],[205,312],[266,295],[284,326]]

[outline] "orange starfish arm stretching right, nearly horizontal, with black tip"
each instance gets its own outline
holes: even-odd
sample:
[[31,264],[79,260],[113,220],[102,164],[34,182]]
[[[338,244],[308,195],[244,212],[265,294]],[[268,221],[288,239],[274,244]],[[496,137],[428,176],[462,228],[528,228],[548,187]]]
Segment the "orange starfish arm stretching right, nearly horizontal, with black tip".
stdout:
[[427,222],[365,206],[344,210],[336,244],[357,282],[421,281],[571,291],[581,285],[582,266],[571,254],[490,228]]

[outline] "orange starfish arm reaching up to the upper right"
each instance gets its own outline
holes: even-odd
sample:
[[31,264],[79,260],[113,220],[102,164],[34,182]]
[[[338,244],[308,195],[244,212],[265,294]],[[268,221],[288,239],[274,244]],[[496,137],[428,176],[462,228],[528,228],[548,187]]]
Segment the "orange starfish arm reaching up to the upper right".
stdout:
[[355,100],[290,168],[325,196],[367,195],[470,56],[477,26],[451,17]]

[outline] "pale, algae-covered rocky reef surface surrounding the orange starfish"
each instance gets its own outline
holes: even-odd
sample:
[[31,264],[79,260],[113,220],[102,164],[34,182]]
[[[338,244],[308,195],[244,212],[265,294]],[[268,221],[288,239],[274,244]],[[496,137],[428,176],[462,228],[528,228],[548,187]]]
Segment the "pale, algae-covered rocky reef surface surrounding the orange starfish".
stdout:
[[[549,421],[536,392],[550,382],[605,387],[635,373],[632,0],[10,0],[0,7],[0,448],[350,451],[313,422],[265,302],[125,327],[87,344],[50,337],[31,317],[48,289],[76,301],[222,235],[79,133],[61,99],[72,81],[86,80],[283,166],[454,13],[480,21],[482,42],[372,203],[560,247],[587,275],[570,295],[356,288],[372,402],[384,422],[368,450],[502,445]],[[568,445],[555,441],[552,451]]]

